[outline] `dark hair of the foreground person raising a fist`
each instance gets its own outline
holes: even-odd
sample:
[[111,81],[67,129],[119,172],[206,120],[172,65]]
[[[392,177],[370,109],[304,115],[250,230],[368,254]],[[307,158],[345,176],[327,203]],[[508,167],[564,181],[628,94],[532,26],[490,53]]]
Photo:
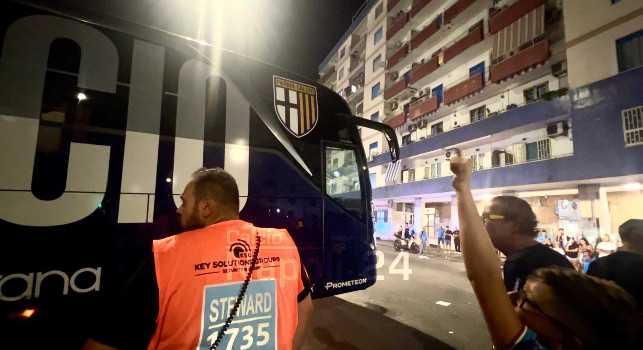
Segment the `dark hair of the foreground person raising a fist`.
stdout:
[[535,270],[528,280],[548,285],[561,312],[574,313],[594,341],[582,339],[585,349],[626,349],[636,341],[641,319],[634,298],[612,281],[558,266]]

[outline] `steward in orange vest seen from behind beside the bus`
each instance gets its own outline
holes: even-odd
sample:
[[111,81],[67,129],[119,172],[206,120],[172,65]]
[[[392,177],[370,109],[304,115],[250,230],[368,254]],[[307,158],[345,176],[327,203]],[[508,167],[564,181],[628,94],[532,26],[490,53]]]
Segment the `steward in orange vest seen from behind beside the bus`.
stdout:
[[[150,259],[82,349],[208,349],[219,333],[237,348],[248,340],[235,337],[240,330],[271,348],[298,348],[313,304],[288,232],[240,220],[237,183],[221,168],[195,171],[181,201],[185,232],[153,241]],[[235,313],[235,300],[260,307]]]

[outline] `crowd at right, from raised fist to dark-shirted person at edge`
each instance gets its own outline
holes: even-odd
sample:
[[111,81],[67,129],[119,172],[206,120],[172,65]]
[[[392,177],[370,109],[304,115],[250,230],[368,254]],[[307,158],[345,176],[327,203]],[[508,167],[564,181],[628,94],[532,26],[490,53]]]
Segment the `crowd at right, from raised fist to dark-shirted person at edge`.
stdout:
[[[471,193],[472,160],[450,162],[466,273],[494,348],[643,348],[643,220],[621,225],[618,252],[597,258],[586,274],[580,273],[574,260],[595,259],[587,239],[576,243],[563,231],[560,241],[537,241],[536,215],[517,197],[493,198],[480,220]],[[507,256],[504,279],[496,249]],[[616,247],[604,244],[601,249],[609,254]]]

